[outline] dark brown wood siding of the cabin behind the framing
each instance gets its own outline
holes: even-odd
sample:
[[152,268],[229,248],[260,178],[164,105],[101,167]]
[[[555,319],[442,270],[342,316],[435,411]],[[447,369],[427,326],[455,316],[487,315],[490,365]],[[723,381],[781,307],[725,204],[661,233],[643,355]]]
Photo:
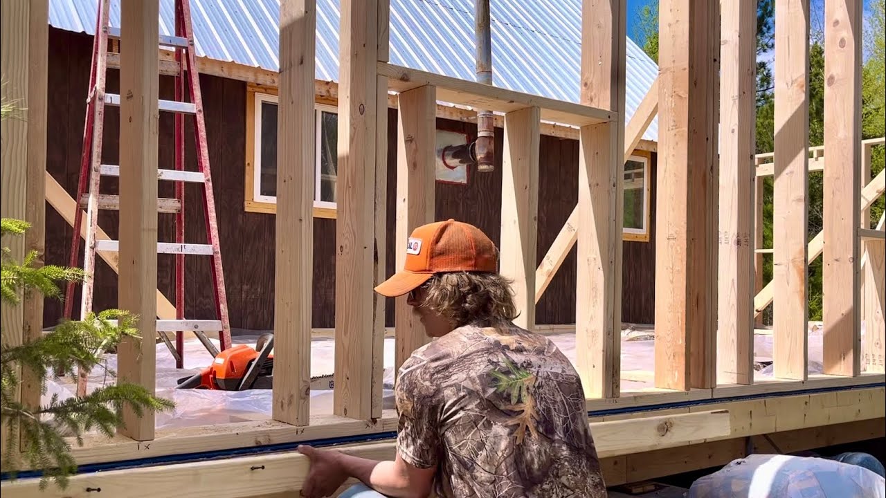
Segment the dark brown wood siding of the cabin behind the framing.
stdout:
[[[51,28],[49,68],[49,136],[47,169],[72,197],[77,189],[80,170],[85,97],[89,83],[91,37]],[[206,135],[213,171],[216,212],[221,237],[221,253],[231,326],[234,329],[269,330],[273,328],[274,244],[273,214],[246,212],[245,190],[245,98],[246,84],[208,75],[200,76],[206,116]],[[118,90],[118,74],[108,72],[108,91]],[[160,98],[173,98],[171,78],[161,77]],[[396,110],[389,109],[388,132],[388,233],[386,240],[387,272],[394,271],[394,189],[396,175]],[[173,118],[160,114],[159,163],[174,167]],[[197,169],[194,131],[186,119],[186,168]],[[472,135],[476,126],[460,121],[437,121],[439,129]],[[105,152],[103,161],[118,163],[119,113],[108,107],[105,116]],[[496,167],[493,173],[471,172],[468,185],[437,183],[436,218],[455,218],[484,230],[496,243],[500,234],[501,146],[502,130],[495,130]],[[538,260],[547,252],[577,199],[578,142],[542,136],[539,175]],[[651,173],[655,177],[655,155]],[[104,193],[117,193],[115,179],[102,179]],[[199,197],[199,185],[187,185],[185,192],[186,241],[206,243],[205,220]],[[160,183],[160,196],[174,197],[169,183]],[[652,205],[655,189],[652,189]],[[116,238],[119,217],[102,212],[99,222],[110,237]],[[654,216],[653,216],[654,228]],[[159,240],[174,241],[173,215],[159,214]],[[46,262],[66,265],[72,229],[47,205]],[[315,327],[333,327],[335,319],[335,221],[315,218],[314,230],[314,302]],[[653,231],[654,236],[654,231]],[[626,242],[624,264],[623,319],[633,323],[651,323],[654,292],[654,241]],[[82,265],[83,243],[80,242]],[[175,300],[172,255],[158,256],[158,288]],[[95,309],[117,306],[117,276],[100,258],[97,259]],[[211,318],[215,315],[209,261],[202,256],[186,257],[186,315]],[[563,263],[537,309],[538,323],[573,323],[575,316],[575,249]],[[369,297],[368,297],[369,299]],[[75,316],[80,292],[74,296]],[[393,300],[387,300],[386,321],[393,323]],[[62,314],[58,300],[47,300],[44,324],[57,323]]]

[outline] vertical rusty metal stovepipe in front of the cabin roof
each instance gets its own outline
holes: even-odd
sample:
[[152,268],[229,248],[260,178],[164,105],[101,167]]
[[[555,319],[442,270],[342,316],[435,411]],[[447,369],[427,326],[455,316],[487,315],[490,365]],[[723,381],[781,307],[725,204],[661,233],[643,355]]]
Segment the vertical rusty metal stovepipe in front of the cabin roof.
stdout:
[[[477,45],[477,81],[493,84],[492,32],[489,26],[489,0],[476,0],[474,9],[474,35]],[[477,170],[488,173],[495,169],[495,122],[492,111],[477,110],[477,140],[472,155]]]

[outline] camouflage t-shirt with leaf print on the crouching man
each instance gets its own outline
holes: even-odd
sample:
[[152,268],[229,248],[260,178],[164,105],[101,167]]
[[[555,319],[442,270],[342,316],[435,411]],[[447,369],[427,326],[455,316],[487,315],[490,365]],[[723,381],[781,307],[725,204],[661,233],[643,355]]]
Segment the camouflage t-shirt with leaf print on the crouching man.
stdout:
[[398,449],[435,464],[440,497],[605,497],[571,362],[519,328],[465,326],[416,350],[398,373]]

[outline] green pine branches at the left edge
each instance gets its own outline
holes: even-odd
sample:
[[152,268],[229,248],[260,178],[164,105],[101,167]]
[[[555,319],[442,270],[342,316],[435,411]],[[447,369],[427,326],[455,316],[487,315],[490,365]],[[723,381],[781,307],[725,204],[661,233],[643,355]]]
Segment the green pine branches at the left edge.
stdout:
[[[2,236],[20,237],[29,228],[27,222],[2,220]],[[23,262],[14,261],[7,247],[3,249],[2,298],[4,303],[18,305],[30,292],[61,298],[57,282],[79,281],[79,268],[54,265],[35,266],[37,253],[27,253]],[[9,431],[4,438],[3,471],[13,477],[22,468],[43,471],[40,486],[50,479],[66,487],[68,477],[76,471],[71,455],[71,439],[82,446],[84,432],[97,430],[108,436],[123,424],[124,409],[141,416],[147,410],[161,411],[175,406],[172,401],[155,397],[140,385],[117,382],[99,387],[82,398],[59,400],[51,397],[48,405],[25,406],[18,391],[22,373],[30,372],[46,393],[46,379],[56,372],[75,369],[92,370],[107,349],[124,338],[139,339],[134,327],[135,316],[118,309],[90,313],[82,321],[63,320],[52,331],[25,344],[2,346],[2,424]],[[113,375],[113,371],[109,371]],[[18,447],[16,447],[18,443]],[[22,465],[24,463],[24,465]]]

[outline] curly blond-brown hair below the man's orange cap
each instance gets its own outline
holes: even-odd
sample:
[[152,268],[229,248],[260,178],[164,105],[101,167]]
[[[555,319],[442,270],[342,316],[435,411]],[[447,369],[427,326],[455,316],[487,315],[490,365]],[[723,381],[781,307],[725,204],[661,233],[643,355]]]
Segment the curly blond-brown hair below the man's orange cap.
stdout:
[[422,307],[446,317],[455,328],[473,324],[492,327],[519,315],[510,281],[498,273],[438,273],[422,287]]

